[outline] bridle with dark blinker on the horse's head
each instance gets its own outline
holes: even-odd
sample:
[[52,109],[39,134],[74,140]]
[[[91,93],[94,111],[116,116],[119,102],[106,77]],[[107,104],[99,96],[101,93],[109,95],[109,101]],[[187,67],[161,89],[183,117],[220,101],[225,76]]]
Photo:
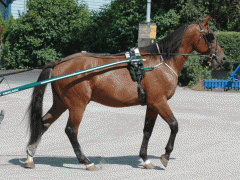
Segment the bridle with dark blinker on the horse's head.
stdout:
[[[207,52],[205,52],[205,53],[203,53],[203,54],[209,53],[209,56],[208,56],[208,57],[210,58],[210,62],[213,62],[213,60],[216,60],[216,59],[217,59],[217,52],[218,52],[218,46],[219,46],[218,41],[216,40],[216,41],[217,41],[216,46],[211,46],[210,43],[212,43],[212,41],[213,41],[214,39],[216,39],[215,36],[214,36],[214,34],[211,33],[211,32],[209,32],[208,34],[205,34],[205,33],[204,33],[204,30],[205,30],[205,29],[202,29],[202,25],[201,25],[200,22],[199,22],[199,26],[200,26],[200,33],[201,33],[201,35],[200,35],[200,37],[199,37],[198,42],[200,42],[201,37],[203,36],[204,39],[205,39],[205,41],[206,41],[206,43],[207,43],[207,45],[208,45],[208,50],[207,50]],[[206,28],[209,30],[209,24],[207,25]],[[212,49],[215,48],[215,47],[217,47],[217,48],[216,48],[215,53],[213,53],[213,52],[212,52]]]

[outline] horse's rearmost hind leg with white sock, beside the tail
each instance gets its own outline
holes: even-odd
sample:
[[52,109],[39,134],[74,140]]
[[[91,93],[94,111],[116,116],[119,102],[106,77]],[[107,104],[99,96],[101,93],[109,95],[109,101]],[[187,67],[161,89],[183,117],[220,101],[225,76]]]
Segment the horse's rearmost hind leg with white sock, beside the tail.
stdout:
[[42,134],[40,135],[40,137],[38,137],[35,143],[31,143],[29,141],[27,145],[27,160],[25,161],[26,168],[35,168],[33,156],[36,152],[38,144],[40,143],[43,133],[47,131],[47,129],[51,126],[51,124],[54,121],[56,121],[61,116],[61,114],[66,111],[66,109],[67,107],[62,102],[62,100],[59,99],[58,96],[54,95],[52,107],[42,118],[42,125],[43,125]]

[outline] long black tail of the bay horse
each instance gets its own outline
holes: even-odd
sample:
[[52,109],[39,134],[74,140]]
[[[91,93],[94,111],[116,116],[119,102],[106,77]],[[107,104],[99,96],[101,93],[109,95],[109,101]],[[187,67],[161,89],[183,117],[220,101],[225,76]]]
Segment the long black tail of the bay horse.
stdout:
[[[37,81],[42,81],[49,78],[52,67],[45,66],[42,70]],[[33,89],[32,98],[30,105],[28,107],[29,115],[29,132],[30,139],[29,144],[34,144],[38,141],[41,135],[44,133],[44,126],[42,121],[42,106],[43,106],[43,96],[46,90],[47,84],[36,86]]]

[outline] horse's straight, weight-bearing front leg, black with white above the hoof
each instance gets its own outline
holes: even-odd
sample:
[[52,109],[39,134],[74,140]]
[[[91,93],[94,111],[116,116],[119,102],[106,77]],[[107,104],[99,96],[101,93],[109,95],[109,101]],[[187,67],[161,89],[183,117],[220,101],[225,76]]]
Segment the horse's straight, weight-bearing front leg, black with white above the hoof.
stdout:
[[149,139],[152,135],[152,131],[157,119],[157,115],[158,115],[158,112],[155,111],[154,108],[150,106],[147,107],[145,125],[143,129],[143,141],[142,141],[142,146],[139,154],[139,156],[144,161],[143,167],[146,169],[155,169],[155,167],[147,158],[147,147],[148,147]]

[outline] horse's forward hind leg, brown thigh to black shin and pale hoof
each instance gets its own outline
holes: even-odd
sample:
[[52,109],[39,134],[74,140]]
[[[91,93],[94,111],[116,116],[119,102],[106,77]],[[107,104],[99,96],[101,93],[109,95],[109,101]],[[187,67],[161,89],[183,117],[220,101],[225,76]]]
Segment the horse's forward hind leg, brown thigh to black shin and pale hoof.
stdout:
[[86,169],[89,171],[96,171],[98,168],[84,155],[77,139],[78,128],[81,123],[84,110],[85,107],[69,111],[69,119],[65,128],[65,133],[67,134],[72,144],[73,150],[77,156],[79,163],[86,165]]

